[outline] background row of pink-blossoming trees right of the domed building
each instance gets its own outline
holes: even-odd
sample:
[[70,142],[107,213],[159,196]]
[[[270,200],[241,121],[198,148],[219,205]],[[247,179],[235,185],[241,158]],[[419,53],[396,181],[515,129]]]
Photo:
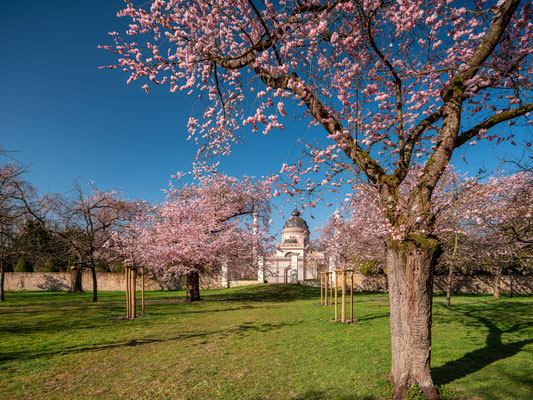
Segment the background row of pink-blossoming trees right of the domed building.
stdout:
[[[413,180],[404,184],[409,182]],[[320,229],[320,244],[342,268],[379,272],[386,269],[391,231],[376,197],[365,189],[349,195],[344,218],[336,213]],[[491,272],[496,298],[500,297],[500,276],[505,269],[533,271],[531,172],[479,180],[448,169],[433,194],[432,210],[432,233],[443,243],[436,268],[448,272],[448,306],[454,271]]]

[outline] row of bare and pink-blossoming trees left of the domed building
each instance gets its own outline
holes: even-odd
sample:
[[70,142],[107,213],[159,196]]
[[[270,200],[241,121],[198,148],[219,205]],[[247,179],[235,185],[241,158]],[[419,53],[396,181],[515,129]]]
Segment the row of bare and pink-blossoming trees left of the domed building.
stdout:
[[122,266],[163,281],[185,276],[187,299],[195,301],[200,275],[249,271],[270,242],[266,182],[210,174],[171,185],[163,203],[150,205],[77,181],[70,193],[40,195],[26,171],[15,160],[0,167],[2,301],[7,266],[19,257],[40,270],[70,269],[71,292],[83,291],[82,273],[90,272],[95,302],[97,271]]

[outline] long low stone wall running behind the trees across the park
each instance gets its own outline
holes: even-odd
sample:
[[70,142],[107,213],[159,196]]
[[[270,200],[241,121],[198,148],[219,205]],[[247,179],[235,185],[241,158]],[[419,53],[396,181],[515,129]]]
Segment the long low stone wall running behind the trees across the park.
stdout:
[[[125,290],[124,274],[99,273],[98,289]],[[447,276],[438,275],[434,280],[434,292],[446,292]],[[455,276],[454,293],[493,293],[494,277],[482,276]],[[254,285],[256,280],[231,281],[230,287]],[[309,286],[320,286],[320,280],[308,280],[304,282]],[[201,289],[220,289],[220,281],[216,277],[202,277]],[[364,291],[387,291],[387,278],[385,275],[360,275],[354,277],[356,290]],[[68,290],[70,288],[70,274],[63,272],[6,272],[6,290]],[[137,279],[137,288],[141,289],[141,280]],[[175,279],[172,282],[161,283],[152,279],[145,280],[146,290],[181,290],[185,288],[183,279]],[[91,274],[83,274],[83,289],[92,290]],[[505,275],[501,277],[501,293],[533,294],[533,276]]]

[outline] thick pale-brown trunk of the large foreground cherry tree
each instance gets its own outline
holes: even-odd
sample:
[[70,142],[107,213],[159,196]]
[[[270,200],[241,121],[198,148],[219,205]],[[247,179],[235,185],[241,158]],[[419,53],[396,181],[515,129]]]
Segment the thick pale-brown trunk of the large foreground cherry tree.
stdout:
[[391,242],[387,248],[394,400],[418,385],[429,400],[438,400],[431,378],[431,305],[433,267],[439,242],[420,235]]

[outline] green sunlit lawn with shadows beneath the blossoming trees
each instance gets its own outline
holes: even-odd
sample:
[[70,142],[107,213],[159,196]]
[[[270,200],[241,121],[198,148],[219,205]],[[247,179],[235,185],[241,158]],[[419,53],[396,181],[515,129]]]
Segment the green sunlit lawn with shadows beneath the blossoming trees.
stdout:
[[[388,397],[388,297],[356,294],[354,325],[327,322],[319,289],[258,285],[124,294],[13,292],[0,304],[1,399]],[[433,376],[461,399],[533,398],[533,297],[435,297]]]

